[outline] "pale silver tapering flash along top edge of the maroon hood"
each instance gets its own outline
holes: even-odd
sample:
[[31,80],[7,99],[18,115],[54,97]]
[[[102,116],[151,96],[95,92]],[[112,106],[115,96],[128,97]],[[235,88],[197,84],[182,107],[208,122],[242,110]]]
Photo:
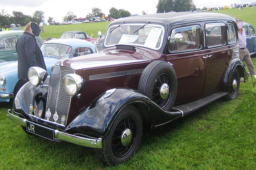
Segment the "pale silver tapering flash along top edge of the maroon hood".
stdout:
[[140,63],[145,61],[150,61],[150,60],[73,62],[70,64],[70,67],[74,70],[79,70],[79,69],[89,69],[89,68],[118,65],[118,64]]

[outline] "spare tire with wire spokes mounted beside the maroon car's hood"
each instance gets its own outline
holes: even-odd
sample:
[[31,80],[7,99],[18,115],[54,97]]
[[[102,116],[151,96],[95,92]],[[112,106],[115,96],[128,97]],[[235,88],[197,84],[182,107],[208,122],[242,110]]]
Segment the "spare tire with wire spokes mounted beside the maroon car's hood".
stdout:
[[[167,84],[169,94],[166,98],[160,95],[160,88]],[[138,90],[153,100],[158,106],[170,111],[177,95],[177,77],[170,63],[155,61],[142,72]]]

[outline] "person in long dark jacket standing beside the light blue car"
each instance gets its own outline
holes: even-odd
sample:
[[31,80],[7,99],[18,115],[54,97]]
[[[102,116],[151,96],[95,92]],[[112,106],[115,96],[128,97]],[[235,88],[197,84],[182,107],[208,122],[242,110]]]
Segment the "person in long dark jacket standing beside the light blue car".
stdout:
[[35,39],[35,36],[39,36],[39,33],[40,27],[35,22],[29,22],[25,27],[25,32],[16,43],[18,53],[18,79],[20,80],[18,82],[19,85],[14,89],[14,93],[28,82],[28,69],[30,67],[37,66],[46,70],[42,51]]

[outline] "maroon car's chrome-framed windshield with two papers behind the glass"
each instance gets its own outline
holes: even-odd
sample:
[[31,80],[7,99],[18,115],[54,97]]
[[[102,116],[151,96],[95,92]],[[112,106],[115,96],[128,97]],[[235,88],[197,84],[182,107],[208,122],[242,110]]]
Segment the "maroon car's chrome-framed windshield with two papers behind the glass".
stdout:
[[117,24],[108,29],[105,46],[129,44],[159,49],[163,42],[164,27],[156,24]]

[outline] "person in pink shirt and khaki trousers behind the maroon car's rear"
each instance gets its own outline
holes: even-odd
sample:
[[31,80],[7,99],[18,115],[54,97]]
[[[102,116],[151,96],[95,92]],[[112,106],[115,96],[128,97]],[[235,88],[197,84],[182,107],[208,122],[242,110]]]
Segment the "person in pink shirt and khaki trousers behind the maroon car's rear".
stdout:
[[252,60],[250,57],[250,53],[246,48],[245,29],[243,28],[242,20],[240,19],[236,20],[236,25],[238,28],[239,53],[240,53],[239,58],[241,61],[244,61],[252,77],[252,75],[255,75],[255,71],[254,71],[254,66],[252,64]]

